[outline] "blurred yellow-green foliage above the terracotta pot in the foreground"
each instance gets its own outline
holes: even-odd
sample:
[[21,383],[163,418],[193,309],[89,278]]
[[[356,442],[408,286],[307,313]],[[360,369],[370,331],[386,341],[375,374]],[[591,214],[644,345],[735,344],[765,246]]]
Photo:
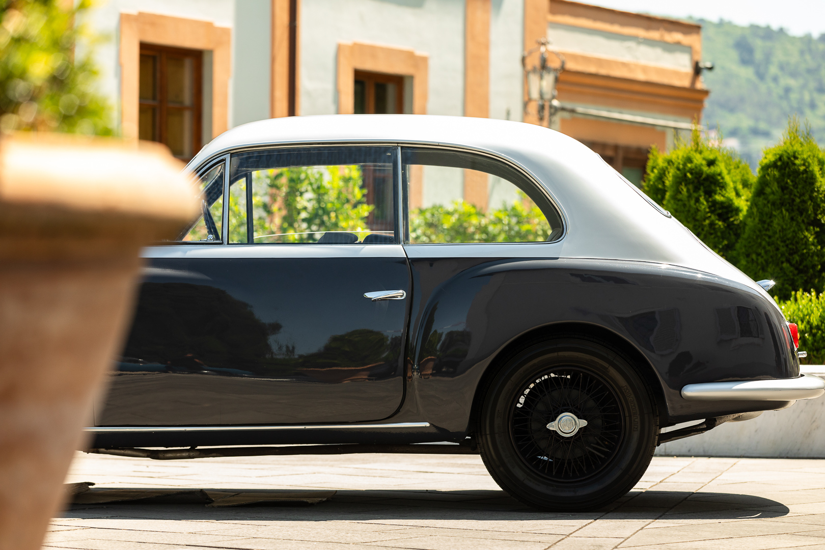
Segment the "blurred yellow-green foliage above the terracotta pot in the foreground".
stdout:
[[82,24],[91,5],[0,2],[0,129],[112,133],[110,107],[94,89],[97,39]]

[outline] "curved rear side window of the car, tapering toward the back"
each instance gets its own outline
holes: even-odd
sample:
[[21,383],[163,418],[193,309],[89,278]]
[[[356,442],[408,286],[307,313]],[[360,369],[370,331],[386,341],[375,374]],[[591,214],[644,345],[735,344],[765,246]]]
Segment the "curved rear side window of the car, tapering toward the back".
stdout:
[[505,162],[438,148],[403,148],[408,242],[548,242],[559,212]]

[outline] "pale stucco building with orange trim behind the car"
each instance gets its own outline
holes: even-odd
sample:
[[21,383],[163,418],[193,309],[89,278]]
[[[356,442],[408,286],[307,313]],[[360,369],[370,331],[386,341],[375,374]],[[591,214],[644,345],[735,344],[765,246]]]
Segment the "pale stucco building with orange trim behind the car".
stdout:
[[97,59],[123,134],[184,159],[277,116],[538,123],[522,53],[548,39],[565,59],[550,124],[638,182],[708,94],[700,26],[568,0],[109,0],[91,23],[113,37]]

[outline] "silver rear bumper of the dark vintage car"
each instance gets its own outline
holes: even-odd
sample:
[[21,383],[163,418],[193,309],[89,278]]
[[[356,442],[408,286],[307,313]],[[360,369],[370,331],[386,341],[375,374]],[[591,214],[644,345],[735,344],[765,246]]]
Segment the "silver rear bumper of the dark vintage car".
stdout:
[[688,384],[681,397],[691,401],[798,401],[825,393],[825,380],[802,374],[799,378]]

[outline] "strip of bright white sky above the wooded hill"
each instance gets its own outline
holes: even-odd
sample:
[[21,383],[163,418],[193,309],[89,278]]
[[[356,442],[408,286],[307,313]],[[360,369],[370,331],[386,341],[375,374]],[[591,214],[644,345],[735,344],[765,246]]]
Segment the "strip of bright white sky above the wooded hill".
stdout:
[[732,21],[741,26],[784,27],[790,35],[825,33],[825,0],[585,0],[625,12],[709,21]]

